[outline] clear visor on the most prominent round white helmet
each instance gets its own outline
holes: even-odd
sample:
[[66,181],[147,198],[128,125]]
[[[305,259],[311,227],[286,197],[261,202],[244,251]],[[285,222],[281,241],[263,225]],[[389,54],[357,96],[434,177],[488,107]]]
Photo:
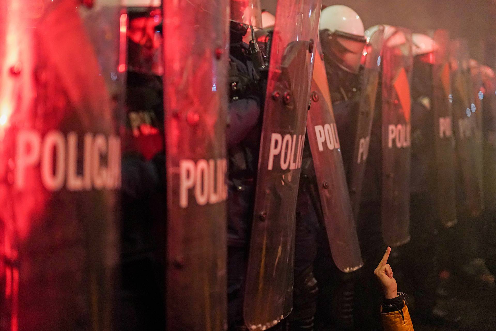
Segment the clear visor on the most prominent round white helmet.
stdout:
[[334,31],[328,35],[327,51],[334,61],[344,70],[358,72],[367,39],[363,36]]

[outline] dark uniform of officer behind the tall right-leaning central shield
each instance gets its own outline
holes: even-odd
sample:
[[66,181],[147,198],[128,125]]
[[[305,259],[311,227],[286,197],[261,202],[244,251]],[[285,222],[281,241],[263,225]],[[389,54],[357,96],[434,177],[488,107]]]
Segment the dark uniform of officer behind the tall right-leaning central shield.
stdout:
[[[233,28],[233,25],[236,25]],[[244,330],[244,280],[253,218],[255,180],[260,148],[265,79],[253,65],[249,46],[242,41],[246,31],[231,28],[230,104],[227,144],[229,148],[228,203],[228,323],[229,330]],[[311,161],[311,158],[310,158]],[[308,164],[304,154],[302,168]],[[295,234],[295,278],[293,311],[273,330],[313,330],[316,281],[313,260],[316,252],[315,212],[308,198],[302,173],[297,200]],[[272,330],[272,329],[271,329]]]

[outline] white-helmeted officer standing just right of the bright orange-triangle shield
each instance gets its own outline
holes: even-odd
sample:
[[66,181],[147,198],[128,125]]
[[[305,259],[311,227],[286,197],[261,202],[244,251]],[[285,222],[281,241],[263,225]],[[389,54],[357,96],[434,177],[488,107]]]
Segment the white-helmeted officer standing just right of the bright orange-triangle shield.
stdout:
[[[449,228],[456,223],[453,162],[446,164],[446,169],[439,169],[446,175],[451,169],[450,178],[439,176],[436,172],[436,164],[439,164],[436,162],[436,157],[446,159],[453,157],[454,154],[451,117],[449,111],[442,114],[442,109],[449,107],[447,98],[449,92],[445,90],[445,86],[439,84],[443,80],[449,81],[449,75],[437,77],[448,72],[441,70],[443,62],[439,59],[442,53],[446,52],[441,52],[442,45],[435,44],[431,37],[424,34],[414,33],[412,46],[414,56],[411,85],[410,233],[412,237],[411,242],[404,247],[402,262],[405,280],[412,286],[411,293],[415,295],[415,314],[431,324],[456,326],[459,318],[448,317],[447,312],[437,306],[436,299],[439,273],[436,253],[439,250],[438,227],[445,224]],[[434,48],[438,52],[434,52]],[[434,65],[440,69],[436,70],[437,67]],[[447,126],[439,128],[439,123],[446,123]],[[439,141],[436,140],[436,135],[439,136]],[[443,140],[446,142],[444,143]],[[441,144],[442,146],[439,146]],[[451,180],[451,184],[446,184],[444,179]],[[441,188],[442,191],[438,190]],[[437,195],[437,192],[442,193]],[[440,215],[438,210],[442,210],[443,215]],[[446,217],[449,217],[449,220],[441,220]]]

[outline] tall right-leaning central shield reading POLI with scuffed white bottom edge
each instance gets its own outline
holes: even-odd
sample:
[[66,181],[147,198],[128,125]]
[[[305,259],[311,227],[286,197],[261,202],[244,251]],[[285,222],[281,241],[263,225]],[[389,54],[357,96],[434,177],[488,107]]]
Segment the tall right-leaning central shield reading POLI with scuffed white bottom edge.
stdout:
[[292,309],[296,198],[320,6],[278,2],[246,278],[250,330],[266,330]]

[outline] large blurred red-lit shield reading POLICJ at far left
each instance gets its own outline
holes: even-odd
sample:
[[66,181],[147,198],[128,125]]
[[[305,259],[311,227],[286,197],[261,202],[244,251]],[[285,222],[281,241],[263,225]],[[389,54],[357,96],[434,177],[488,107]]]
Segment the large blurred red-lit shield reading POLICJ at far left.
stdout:
[[116,330],[119,1],[0,8],[0,329]]

